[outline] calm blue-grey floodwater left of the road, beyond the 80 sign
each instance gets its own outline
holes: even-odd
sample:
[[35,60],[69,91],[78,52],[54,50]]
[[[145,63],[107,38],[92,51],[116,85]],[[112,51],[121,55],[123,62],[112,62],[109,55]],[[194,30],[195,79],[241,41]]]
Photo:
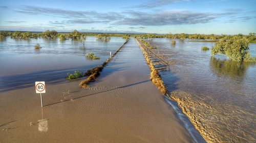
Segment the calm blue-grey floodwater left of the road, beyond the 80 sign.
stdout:
[[[47,83],[66,81],[67,73],[85,72],[102,64],[124,41],[112,37],[109,42],[102,42],[90,36],[83,46],[73,40],[16,40],[8,37],[0,41],[0,91],[29,87],[36,80]],[[42,48],[34,49],[36,43]],[[88,52],[95,53],[100,60],[87,60],[85,54]]]

